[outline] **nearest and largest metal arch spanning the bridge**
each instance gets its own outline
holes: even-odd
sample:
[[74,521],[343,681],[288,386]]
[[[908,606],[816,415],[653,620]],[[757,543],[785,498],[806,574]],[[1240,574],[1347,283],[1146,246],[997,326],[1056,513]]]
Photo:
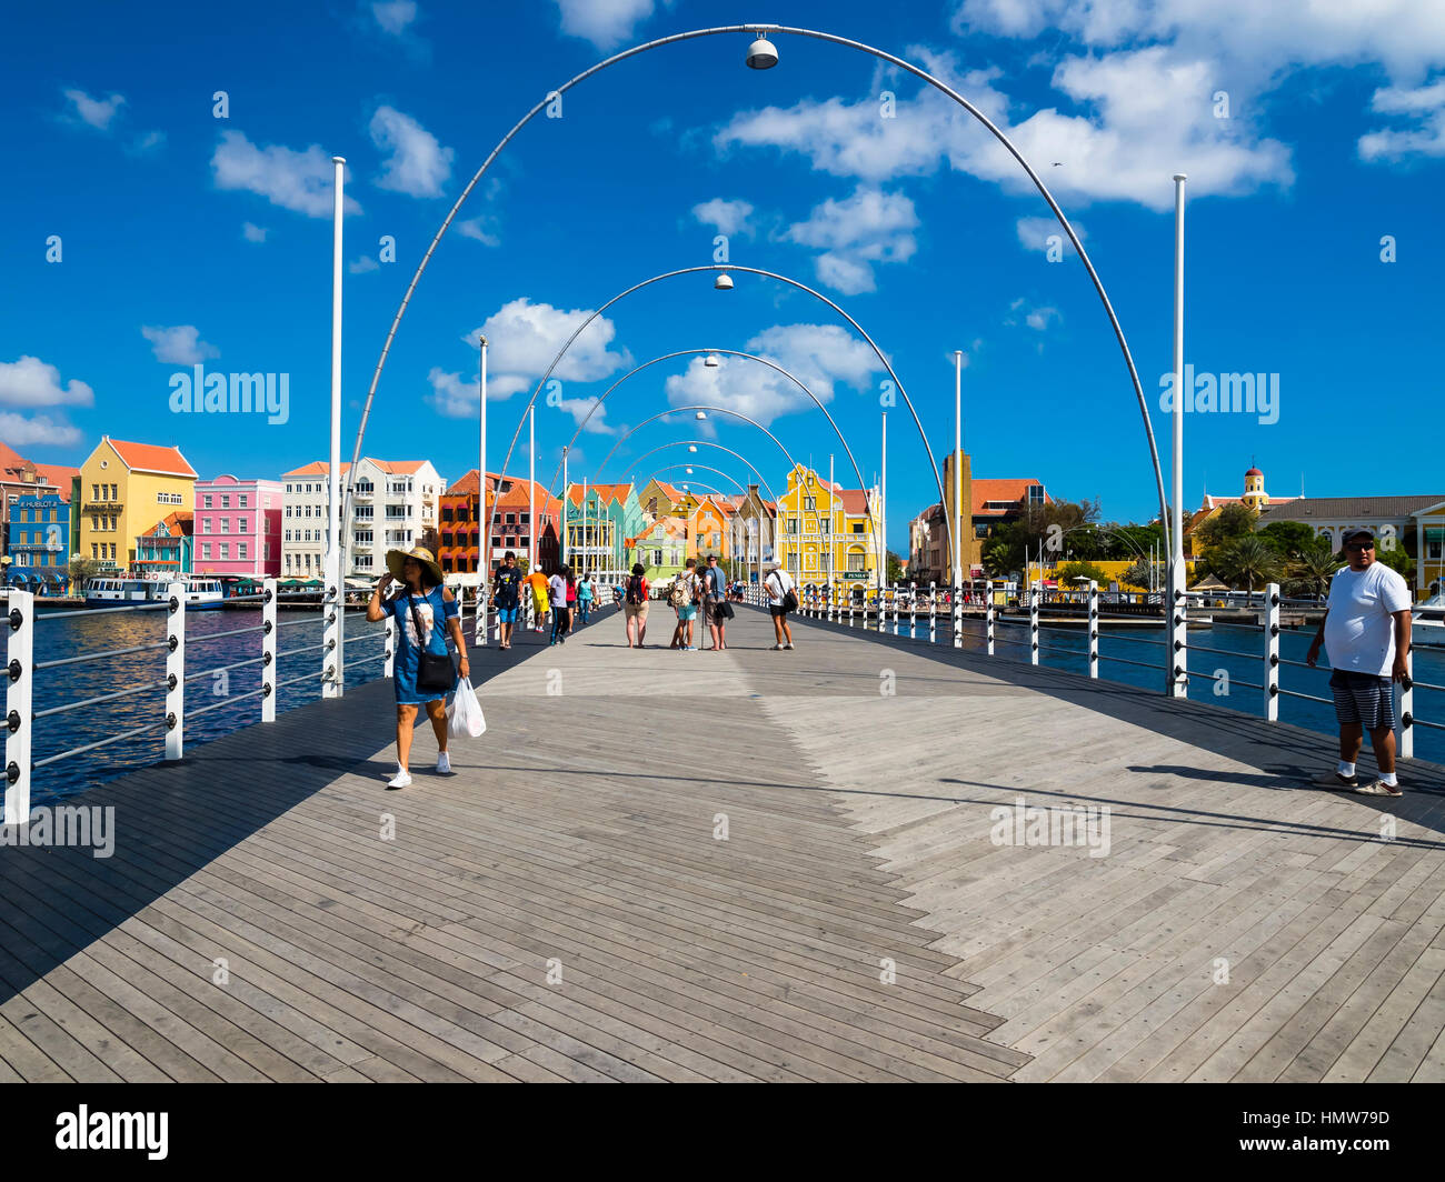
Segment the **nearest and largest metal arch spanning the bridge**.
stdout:
[[[587,78],[592,77],[594,74],[605,69],[607,66],[616,65],[617,62],[626,61],[627,58],[637,56],[639,53],[644,53],[649,49],[660,49],[663,45],[672,45],[672,43],[676,43],[676,42],[692,40],[695,38],[718,36],[718,35],[727,35],[727,33],[753,33],[754,36],[762,36],[763,33],[773,33],[773,35],[783,33],[783,35],[789,35],[789,36],[805,36],[805,38],[812,38],[815,40],[824,40],[824,42],[828,42],[831,45],[842,45],[842,46],[847,46],[850,49],[858,49],[858,51],[861,51],[864,53],[873,55],[874,58],[879,58],[881,61],[890,62],[890,64],[899,66],[900,69],[906,71],[907,74],[912,74],[915,78],[920,78],[922,81],[925,81],[929,85],[932,85],[935,90],[938,90],[942,94],[946,94],[949,98],[952,98],[959,107],[962,107],[965,111],[968,111],[968,114],[971,114],[975,120],[978,120],[994,136],[994,139],[997,139],[998,143],[1001,143],[1004,146],[1004,149],[1009,152],[1009,155],[1013,156],[1014,160],[1019,162],[1019,166],[1027,173],[1029,179],[1033,182],[1033,186],[1039,191],[1039,195],[1048,202],[1049,208],[1053,211],[1053,215],[1059,220],[1059,225],[1064,227],[1064,233],[1069,236],[1069,243],[1072,243],[1074,250],[1078,253],[1079,262],[1082,262],[1084,267],[1088,270],[1090,279],[1094,283],[1094,289],[1098,292],[1098,298],[1100,298],[1100,301],[1104,305],[1104,312],[1108,315],[1108,321],[1110,321],[1110,324],[1114,328],[1114,338],[1118,341],[1120,351],[1124,355],[1124,364],[1129,367],[1129,377],[1130,377],[1130,381],[1134,386],[1134,396],[1139,400],[1139,412],[1143,416],[1144,438],[1146,438],[1146,441],[1149,444],[1149,457],[1150,457],[1150,460],[1153,462],[1153,467],[1155,467],[1155,483],[1156,483],[1157,490],[1159,490],[1159,517],[1160,517],[1160,525],[1163,526],[1165,543],[1168,546],[1168,543],[1169,543],[1169,520],[1168,520],[1169,519],[1169,507],[1168,507],[1168,499],[1165,496],[1165,480],[1163,480],[1163,471],[1159,467],[1159,449],[1155,445],[1153,423],[1150,422],[1150,418],[1149,418],[1149,403],[1144,399],[1144,390],[1143,390],[1143,387],[1139,383],[1139,370],[1134,366],[1133,354],[1129,351],[1129,342],[1124,340],[1124,329],[1123,329],[1123,327],[1118,322],[1117,314],[1114,312],[1114,305],[1110,302],[1108,293],[1104,290],[1104,282],[1098,277],[1098,272],[1094,269],[1094,263],[1088,257],[1088,251],[1084,250],[1084,243],[1081,243],[1078,234],[1074,233],[1074,227],[1069,224],[1069,220],[1064,215],[1064,210],[1059,208],[1059,204],[1053,199],[1053,194],[1051,194],[1049,189],[1048,189],[1048,186],[1043,184],[1043,179],[1039,176],[1038,172],[1033,171],[1033,166],[1027,162],[1027,159],[1025,159],[1023,153],[1019,152],[1017,147],[1014,147],[1013,142],[998,129],[997,124],[994,124],[994,121],[991,118],[988,118],[988,116],[985,116],[983,111],[980,111],[972,103],[970,103],[967,98],[964,98],[961,94],[958,94],[958,91],[955,91],[952,87],[949,87],[945,82],[942,82],[938,78],[935,78],[926,69],[920,69],[919,66],[913,65],[912,62],[905,61],[903,58],[894,56],[893,53],[887,53],[883,49],[877,49],[876,46],[867,45],[867,43],[860,42],[860,40],[851,40],[850,38],[841,38],[837,33],[824,33],[824,32],[818,32],[815,29],[795,29],[795,27],[783,26],[783,25],[725,25],[725,26],[718,26],[718,27],[712,27],[712,29],[692,29],[692,30],[685,32],[685,33],[672,33],[672,35],[669,35],[666,38],[657,38],[655,40],[644,42],[643,45],[634,45],[631,49],[624,49],[623,52],[614,53],[613,56],[605,58],[604,61],[598,62],[597,65],[594,65],[594,66],[591,66],[588,69],[584,69],[581,74],[574,75],[566,82],[564,82],[561,87],[558,87],[556,90],[553,90],[549,94],[546,94],[536,105],[532,107],[530,111],[527,111],[512,127],[510,131],[507,131],[506,136],[501,137],[501,140],[497,143],[497,146],[494,149],[491,149],[491,153],[487,156],[487,159],[483,160],[481,168],[478,168],[477,172],[475,172],[475,175],[471,178],[471,181],[467,182],[467,186],[462,189],[461,195],[457,198],[457,202],[447,212],[447,217],[442,220],[441,227],[436,230],[436,234],[434,236],[431,244],[426,247],[426,253],[422,256],[422,262],[418,263],[416,273],[412,276],[412,280],[410,280],[410,283],[406,288],[406,293],[402,296],[402,302],[400,302],[400,305],[396,309],[396,316],[393,318],[392,327],[387,329],[387,334],[386,334],[386,341],[381,345],[381,355],[377,358],[376,371],[371,374],[371,384],[367,389],[366,405],[364,405],[364,407],[361,410],[361,425],[357,429],[355,449],[354,449],[354,452],[351,455],[351,467],[353,467],[353,470],[355,468],[355,465],[361,460],[361,444],[363,444],[363,439],[366,436],[367,419],[371,415],[371,402],[376,397],[376,387],[377,387],[377,384],[381,380],[381,370],[386,366],[386,358],[387,358],[387,354],[390,353],[392,341],[396,337],[396,329],[400,327],[402,316],[406,314],[406,308],[410,303],[412,293],[416,290],[416,285],[420,282],[422,273],[426,270],[426,263],[431,260],[432,254],[435,253],[438,244],[442,240],[442,236],[447,233],[447,228],[451,225],[452,218],[457,217],[458,211],[465,204],[467,198],[471,197],[471,191],[477,186],[477,182],[483,178],[483,175],[487,172],[487,169],[491,166],[491,163],[501,153],[501,149],[504,149],[512,142],[513,136],[516,136],[517,131],[520,131],[527,123],[530,123],[536,117],[536,114],[543,107],[546,107],[553,98],[561,98],[561,95],[565,91],[569,91],[572,87],[578,85],[579,82],[585,81]],[[896,377],[894,377],[894,381],[897,381]],[[902,393],[902,386],[899,386],[899,392]],[[536,399],[536,394],[533,394],[533,400],[535,399]],[[905,402],[909,406],[909,412],[913,415],[913,420],[918,422],[918,412],[913,410],[913,403],[907,399],[906,394],[905,394]],[[517,431],[520,432],[520,426],[517,428]],[[922,425],[920,423],[919,423],[919,431],[922,432]],[[516,436],[513,436],[513,447],[514,445],[516,445]],[[926,441],[926,436],[925,436],[925,447],[926,445],[928,445],[928,441]],[[512,449],[509,448],[509,452],[507,452],[509,460],[510,460],[510,455],[512,455]],[[929,448],[929,462],[932,462],[932,460],[933,460],[933,452],[932,452],[932,448]],[[481,467],[486,468],[486,457],[483,457]],[[938,478],[938,465],[936,464],[933,464],[933,475],[935,475],[935,478]],[[486,484],[486,474],[483,474],[483,483]],[[942,501],[942,500],[945,500],[945,497],[942,494],[942,480],[938,480],[938,484],[939,484],[939,500]],[[486,497],[483,497],[483,500],[486,500]],[[347,529],[348,529],[350,509],[351,509],[351,491],[348,490],[347,491],[347,499],[345,499],[345,512],[342,513],[342,519],[341,519],[342,532],[341,532],[341,536],[337,539],[337,545],[340,545],[342,548],[342,551],[345,549],[345,538],[347,538]],[[949,523],[949,538],[952,539],[952,525],[951,523]],[[342,553],[342,558],[344,558],[344,553]]]

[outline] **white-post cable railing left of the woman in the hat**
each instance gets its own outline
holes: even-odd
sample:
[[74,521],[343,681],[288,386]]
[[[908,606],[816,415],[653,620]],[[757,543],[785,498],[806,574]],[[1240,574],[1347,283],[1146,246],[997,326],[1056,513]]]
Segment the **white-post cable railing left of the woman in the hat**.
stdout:
[[[315,614],[308,613],[306,618],[279,621],[276,618],[277,604],[295,601],[296,597],[277,595],[276,579],[263,579],[262,590],[256,594],[234,595],[225,600],[225,604],[250,603],[259,607],[262,611],[260,624],[240,629],[224,629],[210,633],[188,633],[185,584],[172,582],[160,587],[163,587],[160,592],[162,597],[144,603],[123,604],[118,607],[39,613],[36,611],[33,592],[16,588],[6,588],[4,591],[0,591],[0,603],[4,605],[4,620],[9,626],[6,629],[6,673],[9,675],[9,683],[6,689],[4,824],[22,824],[26,818],[29,818],[33,773],[42,767],[49,767],[91,751],[98,751],[130,738],[150,735],[155,731],[160,731],[163,735],[163,760],[173,762],[184,756],[188,718],[195,720],[217,709],[234,708],[237,702],[259,698],[260,709],[256,721],[263,724],[275,722],[277,691],[289,685],[299,685],[301,682],[318,678],[321,679],[324,691],[327,686],[335,686],[337,695],[340,695],[344,683],[345,656],[345,646],[341,643],[340,631],[328,631],[327,639],[324,639],[319,644],[302,644],[277,652],[276,640],[282,627],[303,623],[315,626],[316,617]],[[322,595],[321,608],[324,626],[335,626],[341,623],[341,620],[355,618],[366,614],[364,610],[347,611],[344,607],[338,610],[338,601],[335,588],[329,588],[327,594]],[[46,660],[35,659],[36,649],[40,647],[40,650],[43,650],[43,634],[39,637],[40,644],[38,646],[38,629],[51,626],[55,621],[75,617],[118,617],[121,613],[130,613],[133,617],[139,617],[144,613],[155,611],[165,613],[163,640],[147,642],[144,644],[92,649],[84,653]],[[221,640],[231,642],[240,636],[257,636],[260,640],[260,653],[257,656],[211,665],[204,669],[194,668],[197,662],[194,656],[188,655],[189,647],[205,646]],[[383,676],[392,676],[393,653],[396,647],[394,621],[387,618],[383,630],[377,630],[370,634],[360,634],[355,639],[367,640],[377,636],[383,639],[383,652],[374,656],[360,657],[353,663],[363,665],[374,660],[384,660],[386,665]],[[127,656],[149,656],[156,652],[165,652],[165,676],[159,681],[146,679],[137,685],[105,694],[95,694],[74,702],[62,702],[59,705],[36,709],[36,679],[38,675],[46,670],[71,669],[74,666],[88,665],[97,660],[114,660],[117,657]],[[204,652],[204,647],[201,652]],[[282,657],[303,657],[315,653],[322,655],[319,668],[302,676],[277,681],[277,663]],[[189,669],[186,668],[188,657],[192,665]],[[212,702],[210,705],[192,704],[188,708],[185,694],[188,682],[195,682],[201,678],[214,679],[218,675],[230,675],[230,672],[236,669],[254,665],[262,666],[260,685],[256,689],[225,694],[223,701]],[[163,701],[159,702],[158,718],[152,718],[140,725],[127,727],[116,734],[79,743],[61,751],[48,753],[40,759],[35,757],[33,744],[36,721],[69,714],[78,709],[94,709],[95,707],[104,707],[105,704],[114,704],[147,694],[156,694],[158,696],[163,694]],[[137,708],[137,711],[140,708]],[[127,721],[133,721],[137,711],[131,711]]]

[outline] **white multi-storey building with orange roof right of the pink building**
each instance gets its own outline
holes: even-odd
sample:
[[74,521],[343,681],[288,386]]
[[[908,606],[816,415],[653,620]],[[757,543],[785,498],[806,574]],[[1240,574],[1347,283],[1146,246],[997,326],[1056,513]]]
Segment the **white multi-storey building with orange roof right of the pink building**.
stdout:
[[[351,465],[341,465],[342,481]],[[321,578],[327,553],[329,465],[306,464],[282,477],[282,578]],[[345,486],[342,484],[342,488]],[[410,548],[435,529],[447,481],[429,460],[373,460],[357,464],[348,574],[386,569],[386,552]]]

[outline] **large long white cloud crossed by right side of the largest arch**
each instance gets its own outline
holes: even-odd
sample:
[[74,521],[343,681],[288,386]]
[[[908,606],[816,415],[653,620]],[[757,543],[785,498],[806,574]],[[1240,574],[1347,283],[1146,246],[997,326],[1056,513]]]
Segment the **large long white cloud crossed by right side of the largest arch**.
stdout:
[[[1254,139],[1243,117],[1214,117],[1218,66],[1182,58],[1165,46],[1071,58],[1052,84],[1079,114],[1058,107],[1009,120],[1010,98],[994,87],[997,71],[962,72],[954,58],[912,46],[909,56],[942,77],[997,123],[1058,197],[1134,201],[1152,210],[1172,204],[1169,176],[1181,169],[1195,195],[1227,195],[1260,185],[1289,185],[1287,149]],[[942,162],[958,172],[1033,192],[1027,175],[975,120],[932,87],[903,97],[896,118],[880,118],[876,100],[805,100],[788,110],[744,113],[714,142],[775,146],[811,159],[815,169],[879,182],[928,175]],[[1061,168],[1052,168],[1059,162]]]

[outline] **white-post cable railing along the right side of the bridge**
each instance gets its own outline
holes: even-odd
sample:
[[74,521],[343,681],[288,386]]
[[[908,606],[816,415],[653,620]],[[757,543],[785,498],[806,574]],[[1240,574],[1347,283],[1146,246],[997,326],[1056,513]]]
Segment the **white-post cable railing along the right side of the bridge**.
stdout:
[[[1088,676],[1094,679],[1100,678],[1100,666],[1104,662],[1149,669],[1162,676],[1168,692],[1175,696],[1186,696],[1191,681],[1218,683],[1221,673],[1227,673],[1222,669],[1214,672],[1189,669],[1188,655],[1191,650],[1228,660],[1253,660],[1263,670],[1260,681],[1256,682],[1231,675],[1227,685],[1259,692],[1260,714],[1269,722],[1279,721],[1280,698],[1315,702],[1325,707],[1334,705],[1332,698],[1306,692],[1303,686],[1309,685],[1309,682],[1303,678],[1296,683],[1300,688],[1280,683],[1283,668],[1306,670],[1312,678],[1321,675],[1328,678],[1332,669],[1324,663],[1324,659],[1316,665],[1309,665],[1308,662],[1289,660],[1280,656],[1280,636],[1286,631],[1282,626],[1282,617],[1303,611],[1322,613],[1325,603],[1308,597],[1286,598],[1280,594],[1279,584],[1269,584],[1263,590],[1253,592],[1181,591],[1175,594],[1175,610],[1168,613],[1163,610],[1166,595],[1162,592],[1100,592],[1098,585],[1094,582],[1090,582],[1087,590],[1081,587],[1072,591],[1055,591],[1043,588],[1038,582],[1019,591],[1014,584],[993,582],[990,579],[972,579],[958,588],[939,587],[933,582],[926,588],[920,588],[918,584],[886,584],[883,587],[858,588],[855,585],[838,587],[827,582],[808,582],[796,587],[796,594],[799,601],[798,614],[802,618],[845,629],[861,624],[866,630],[890,631],[894,636],[906,636],[913,640],[926,639],[928,643],[936,644],[941,643],[939,617],[942,616],[945,626],[942,643],[951,642],[957,649],[964,647],[964,640],[970,639],[980,643],[990,657],[997,656],[996,650],[998,646],[1025,649],[1027,652],[1025,660],[1030,665],[1039,665],[1042,655],[1084,657],[1088,665]],[[1105,595],[1108,597],[1107,600],[1104,598]],[[766,591],[756,584],[749,585],[746,600],[754,607],[766,607],[769,603]],[[1118,610],[1120,607],[1133,610]],[[1191,616],[1191,608],[1198,608],[1198,611]],[[1254,623],[1215,620],[1211,608],[1254,611],[1257,618]],[[926,617],[923,616],[925,611]],[[1052,617],[1048,617],[1049,623],[1040,623],[1040,618],[1045,618],[1042,616],[1045,611],[1053,613]],[[1152,611],[1153,614],[1144,614],[1146,611]],[[970,617],[968,629],[965,629],[965,613]],[[900,617],[905,620],[902,624]],[[925,623],[920,623],[920,620]],[[1225,629],[1263,636],[1261,652],[1247,653],[1191,643],[1186,631],[1191,620],[1196,624],[1208,626],[1211,630]],[[1059,627],[1058,624],[1064,621],[1074,626]],[[1143,626],[1149,621],[1157,626],[1160,631],[1165,631],[1165,636],[1126,636],[1110,630],[1107,639],[1110,644],[1123,642],[1153,646],[1156,650],[1160,650],[1157,660],[1131,660],[1130,657],[1100,652],[1101,624],[1120,626],[1129,623]],[[1026,626],[1026,639],[998,634],[997,624],[1000,623]],[[974,630],[978,624],[981,624],[981,631]],[[1040,637],[1051,634],[1079,637],[1081,630],[1088,640],[1087,649],[1082,644],[1059,644],[1052,639],[1046,646],[1040,644]],[[1166,655],[1172,655],[1172,662],[1166,663],[1163,660]],[[1023,663],[1013,656],[1001,656],[1000,659]],[[1407,668],[1413,672],[1413,653],[1407,657]],[[1445,722],[1422,718],[1415,701],[1416,691],[1445,694],[1445,685],[1415,681],[1412,672],[1407,672],[1403,681],[1396,685],[1397,754],[1400,759],[1415,757],[1415,730],[1418,727],[1425,727],[1431,731],[1445,731]],[[1432,705],[1438,704],[1439,699],[1432,702]]]

